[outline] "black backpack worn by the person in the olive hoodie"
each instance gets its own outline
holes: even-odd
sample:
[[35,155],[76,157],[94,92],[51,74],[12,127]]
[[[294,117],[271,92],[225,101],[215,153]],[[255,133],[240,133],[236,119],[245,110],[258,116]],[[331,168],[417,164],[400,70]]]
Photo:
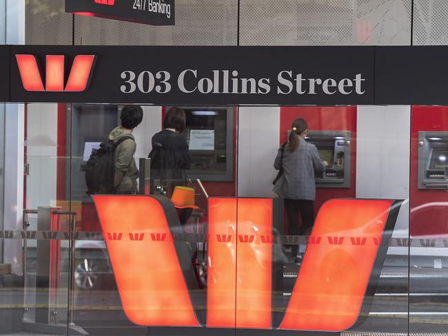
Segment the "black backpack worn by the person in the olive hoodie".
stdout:
[[93,193],[115,193],[115,149],[118,145],[132,136],[122,136],[116,143],[107,140],[101,143],[100,148],[90,154],[85,165],[85,185],[87,194]]

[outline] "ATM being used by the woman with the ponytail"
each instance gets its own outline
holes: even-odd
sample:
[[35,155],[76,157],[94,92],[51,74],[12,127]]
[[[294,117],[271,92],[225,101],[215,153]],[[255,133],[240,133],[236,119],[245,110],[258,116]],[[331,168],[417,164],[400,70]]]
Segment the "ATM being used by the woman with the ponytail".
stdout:
[[[291,131],[288,131],[288,138]],[[328,162],[323,173],[316,172],[318,188],[349,188],[352,165],[352,132],[309,131],[305,140],[317,147],[320,158]]]

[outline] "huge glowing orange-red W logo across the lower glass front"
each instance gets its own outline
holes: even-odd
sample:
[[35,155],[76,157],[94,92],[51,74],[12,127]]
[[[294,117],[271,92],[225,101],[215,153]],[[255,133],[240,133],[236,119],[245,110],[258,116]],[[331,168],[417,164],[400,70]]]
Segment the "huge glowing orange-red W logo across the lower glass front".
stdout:
[[[274,229],[274,213],[281,213],[275,209],[278,199],[209,200],[205,304],[198,302],[192,284],[188,245],[173,239],[173,232],[182,229],[170,200],[93,198],[123,309],[132,322],[325,331],[346,330],[358,320],[383,266],[385,239],[394,229],[401,203],[349,199],[325,203],[291,298],[281,310],[275,306],[278,284],[273,276],[281,246]],[[204,305],[205,312],[200,308]]]

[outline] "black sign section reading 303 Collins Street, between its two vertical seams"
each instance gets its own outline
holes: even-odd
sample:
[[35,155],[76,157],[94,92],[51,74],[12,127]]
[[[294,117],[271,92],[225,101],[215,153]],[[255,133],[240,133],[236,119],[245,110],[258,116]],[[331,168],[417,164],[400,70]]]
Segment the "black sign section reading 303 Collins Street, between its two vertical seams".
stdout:
[[[374,103],[374,47],[11,47],[11,100],[72,103],[342,105]],[[65,56],[65,90],[25,89],[16,55]],[[90,86],[71,92],[77,55]],[[32,59],[33,61],[33,59]]]

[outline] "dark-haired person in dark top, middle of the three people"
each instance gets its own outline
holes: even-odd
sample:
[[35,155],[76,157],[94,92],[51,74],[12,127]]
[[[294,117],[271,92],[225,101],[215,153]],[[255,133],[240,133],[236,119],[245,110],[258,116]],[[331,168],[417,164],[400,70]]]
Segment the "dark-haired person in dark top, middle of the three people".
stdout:
[[190,169],[192,163],[187,140],[182,135],[185,122],[183,109],[171,107],[163,118],[163,129],[151,140],[152,191],[156,191],[154,181],[159,180],[168,197],[174,187],[185,185],[185,170]]

